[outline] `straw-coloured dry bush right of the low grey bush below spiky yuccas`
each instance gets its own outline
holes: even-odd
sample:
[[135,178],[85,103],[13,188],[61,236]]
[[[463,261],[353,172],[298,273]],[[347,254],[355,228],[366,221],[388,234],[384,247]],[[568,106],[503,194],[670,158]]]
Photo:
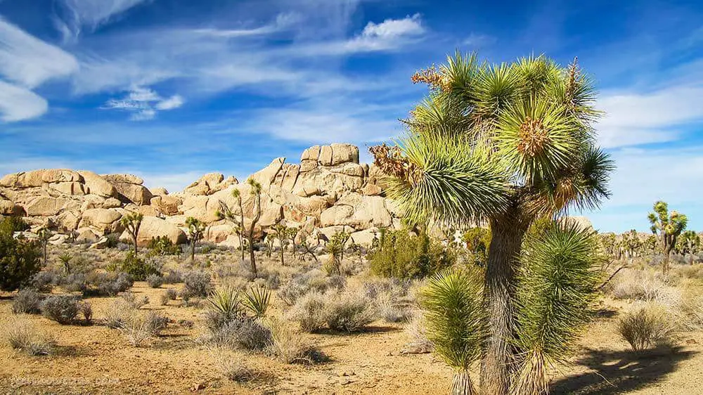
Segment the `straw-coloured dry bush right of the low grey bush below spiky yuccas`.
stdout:
[[289,322],[278,318],[266,320],[271,330],[271,342],[266,347],[266,354],[275,356],[283,363],[313,364],[323,359],[323,354]]

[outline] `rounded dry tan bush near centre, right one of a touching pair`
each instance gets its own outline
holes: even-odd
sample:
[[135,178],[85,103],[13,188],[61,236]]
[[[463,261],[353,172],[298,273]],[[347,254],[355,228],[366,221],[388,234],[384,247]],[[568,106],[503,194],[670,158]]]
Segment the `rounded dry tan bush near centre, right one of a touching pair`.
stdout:
[[362,290],[347,289],[331,296],[326,309],[330,329],[356,332],[376,319],[373,299]]

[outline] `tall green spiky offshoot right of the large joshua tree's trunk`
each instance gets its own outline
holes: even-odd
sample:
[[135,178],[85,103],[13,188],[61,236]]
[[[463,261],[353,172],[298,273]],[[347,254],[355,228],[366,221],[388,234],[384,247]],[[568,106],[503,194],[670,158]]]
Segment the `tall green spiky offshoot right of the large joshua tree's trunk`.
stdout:
[[598,240],[575,224],[552,223],[528,235],[516,294],[517,370],[511,392],[548,394],[546,366],[562,361],[591,317],[600,280]]

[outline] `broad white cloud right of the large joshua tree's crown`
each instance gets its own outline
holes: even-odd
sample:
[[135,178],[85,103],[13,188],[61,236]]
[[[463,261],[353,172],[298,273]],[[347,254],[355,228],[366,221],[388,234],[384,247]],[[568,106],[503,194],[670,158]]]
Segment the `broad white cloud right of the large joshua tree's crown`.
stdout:
[[600,145],[617,148],[676,141],[690,122],[703,120],[703,86],[669,86],[645,93],[606,93],[598,108]]

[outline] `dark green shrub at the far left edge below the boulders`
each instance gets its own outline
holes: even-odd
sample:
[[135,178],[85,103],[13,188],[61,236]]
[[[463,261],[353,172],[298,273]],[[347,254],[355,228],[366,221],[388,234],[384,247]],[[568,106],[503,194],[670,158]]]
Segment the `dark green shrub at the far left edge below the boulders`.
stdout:
[[41,268],[39,242],[13,238],[15,217],[0,222],[0,290],[12,291],[29,282]]

